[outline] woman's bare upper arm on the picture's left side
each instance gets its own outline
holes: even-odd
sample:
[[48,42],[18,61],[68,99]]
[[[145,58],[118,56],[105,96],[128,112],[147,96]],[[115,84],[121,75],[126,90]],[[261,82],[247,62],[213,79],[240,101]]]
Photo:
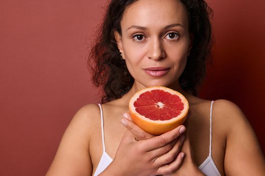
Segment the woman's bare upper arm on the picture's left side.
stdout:
[[89,139],[93,130],[93,121],[90,120],[90,116],[99,113],[96,106],[87,105],[76,113],[62,136],[46,176],[92,175]]

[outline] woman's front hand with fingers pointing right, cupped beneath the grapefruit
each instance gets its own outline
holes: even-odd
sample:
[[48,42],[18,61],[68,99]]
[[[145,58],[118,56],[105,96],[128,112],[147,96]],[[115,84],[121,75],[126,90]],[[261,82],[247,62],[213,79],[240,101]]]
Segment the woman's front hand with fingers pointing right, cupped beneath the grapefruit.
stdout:
[[[151,135],[131,122],[128,114],[122,124],[128,128],[114,160],[104,172],[108,175],[159,175],[175,171],[182,163],[184,153],[181,134],[183,125],[160,136]],[[183,135],[182,135],[183,136]]]

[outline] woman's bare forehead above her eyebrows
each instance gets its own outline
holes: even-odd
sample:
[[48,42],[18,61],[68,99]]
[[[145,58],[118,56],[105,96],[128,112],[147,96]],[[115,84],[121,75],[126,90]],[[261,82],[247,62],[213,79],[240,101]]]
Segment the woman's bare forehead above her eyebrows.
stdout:
[[121,27],[159,27],[174,23],[188,27],[188,13],[179,0],[139,0],[124,11]]

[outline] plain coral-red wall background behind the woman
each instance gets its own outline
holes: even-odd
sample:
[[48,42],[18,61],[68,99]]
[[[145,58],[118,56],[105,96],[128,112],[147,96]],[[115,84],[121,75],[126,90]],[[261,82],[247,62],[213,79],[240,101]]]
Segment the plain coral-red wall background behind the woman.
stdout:
[[[105,2],[0,2],[0,175],[44,175],[74,114],[98,102],[86,57]],[[236,103],[264,152],[265,2],[208,2],[215,61],[200,97]]]

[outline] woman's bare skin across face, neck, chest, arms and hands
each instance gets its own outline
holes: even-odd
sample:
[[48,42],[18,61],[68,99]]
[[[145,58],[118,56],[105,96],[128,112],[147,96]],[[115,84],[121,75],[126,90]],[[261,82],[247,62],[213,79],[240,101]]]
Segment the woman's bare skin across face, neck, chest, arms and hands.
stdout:
[[[198,166],[209,154],[211,101],[184,92],[178,84],[192,47],[184,6],[176,0],[137,1],[125,10],[121,30],[115,38],[135,83],[122,98],[103,105],[106,152],[113,161],[100,175],[204,175]],[[144,71],[152,66],[170,69],[153,77]],[[186,97],[188,125],[153,136],[131,122],[124,114],[130,98],[152,85],[170,87]],[[92,175],[102,155],[100,123],[97,105],[81,108],[46,175]],[[212,125],[212,156],[222,175],[265,175],[255,133],[235,104],[215,101]],[[185,132],[180,133],[181,127]]]

